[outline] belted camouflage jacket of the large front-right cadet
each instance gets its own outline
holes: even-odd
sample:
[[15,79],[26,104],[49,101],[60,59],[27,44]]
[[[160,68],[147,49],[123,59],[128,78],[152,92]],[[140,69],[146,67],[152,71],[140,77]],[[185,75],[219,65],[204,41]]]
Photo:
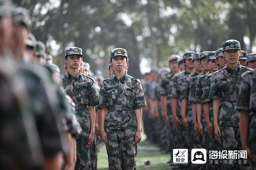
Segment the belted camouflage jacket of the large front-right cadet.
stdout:
[[236,101],[221,101],[223,97],[237,95],[240,88],[241,75],[252,70],[237,64],[234,70],[228,65],[212,74],[209,99],[220,99],[219,126],[239,127],[240,112],[235,110]]

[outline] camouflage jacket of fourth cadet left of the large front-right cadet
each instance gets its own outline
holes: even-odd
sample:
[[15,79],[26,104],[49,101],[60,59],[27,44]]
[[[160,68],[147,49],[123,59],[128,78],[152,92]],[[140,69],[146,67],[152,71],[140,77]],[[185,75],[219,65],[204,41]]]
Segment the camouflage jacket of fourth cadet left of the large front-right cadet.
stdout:
[[[194,72],[193,74],[189,74],[189,75],[185,76],[184,78],[182,78],[182,83],[180,86],[180,89],[181,89],[180,90],[181,91],[180,99],[181,100],[182,100],[182,98],[188,99],[191,79],[196,76],[198,76],[198,74],[196,72]],[[191,118],[191,120],[188,120],[188,122],[193,121],[192,120],[192,103],[189,101],[187,102],[186,116],[189,116]]]

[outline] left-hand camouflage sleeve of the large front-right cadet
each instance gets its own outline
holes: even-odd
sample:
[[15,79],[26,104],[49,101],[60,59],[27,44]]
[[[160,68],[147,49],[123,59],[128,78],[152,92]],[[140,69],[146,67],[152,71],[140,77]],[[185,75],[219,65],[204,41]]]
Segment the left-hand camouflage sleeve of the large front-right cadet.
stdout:
[[221,87],[218,75],[217,73],[212,75],[209,99],[220,99]]

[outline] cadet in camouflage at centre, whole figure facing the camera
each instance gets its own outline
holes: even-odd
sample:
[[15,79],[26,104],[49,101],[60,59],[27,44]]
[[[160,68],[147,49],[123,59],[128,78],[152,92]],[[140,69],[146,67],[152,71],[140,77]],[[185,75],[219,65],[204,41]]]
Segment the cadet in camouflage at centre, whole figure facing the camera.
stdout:
[[112,49],[110,63],[115,73],[100,84],[100,131],[107,146],[109,169],[136,169],[140,108],[147,107],[140,80],[125,72],[127,62],[125,49]]

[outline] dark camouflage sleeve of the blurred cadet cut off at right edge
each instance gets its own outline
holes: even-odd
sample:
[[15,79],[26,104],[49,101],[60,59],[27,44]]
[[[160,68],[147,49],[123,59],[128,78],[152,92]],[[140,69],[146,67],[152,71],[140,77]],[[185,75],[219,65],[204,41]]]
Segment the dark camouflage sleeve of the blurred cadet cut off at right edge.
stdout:
[[241,84],[236,102],[236,110],[249,110],[250,91],[250,75],[243,74],[241,76]]

